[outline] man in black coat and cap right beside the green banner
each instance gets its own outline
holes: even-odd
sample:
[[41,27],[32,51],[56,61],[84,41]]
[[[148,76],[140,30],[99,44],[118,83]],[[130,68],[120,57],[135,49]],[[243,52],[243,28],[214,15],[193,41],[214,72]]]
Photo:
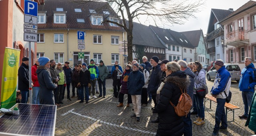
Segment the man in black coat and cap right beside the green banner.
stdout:
[[29,91],[28,64],[29,64],[28,57],[22,58],[22,64],[20,65],[20,68],[18,70],[18,89],[20,90],[21,97],[22,97],[21,103],[28,102],[28,91]]

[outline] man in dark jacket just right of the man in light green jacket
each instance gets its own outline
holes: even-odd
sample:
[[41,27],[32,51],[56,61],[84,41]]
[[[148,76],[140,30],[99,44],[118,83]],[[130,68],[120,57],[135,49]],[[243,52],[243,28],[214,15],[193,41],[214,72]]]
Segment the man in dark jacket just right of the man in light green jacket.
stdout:
[[65,89],[67,87],[67,99],[68,101],[71,101],[70,99],[70,83],[72,80],[72,70],[69,68],[69,62],[66,61],[64,67],[62,67],[66,76],[66,84],[64,84],[63,88],[63,95],[62,95],[62,100],[64,99],[64,94],[65,94]]

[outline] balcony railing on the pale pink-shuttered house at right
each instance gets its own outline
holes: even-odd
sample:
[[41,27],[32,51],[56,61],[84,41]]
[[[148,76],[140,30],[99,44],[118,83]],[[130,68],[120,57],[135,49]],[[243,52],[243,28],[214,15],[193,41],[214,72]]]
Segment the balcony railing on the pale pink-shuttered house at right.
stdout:
[[227,45],[248,43],[249,35],[247,30],[236,30],[226,34]]

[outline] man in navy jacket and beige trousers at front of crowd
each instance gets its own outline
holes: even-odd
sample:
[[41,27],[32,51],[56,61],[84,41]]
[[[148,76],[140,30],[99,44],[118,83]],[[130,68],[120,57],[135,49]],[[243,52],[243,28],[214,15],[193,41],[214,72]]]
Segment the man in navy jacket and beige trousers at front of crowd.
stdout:
[[132,72],[128,78],[127,88],[128,93],[132,96],[132,104],[134,109],[134,114],[131,117],[136,118],[136,121],[140,121],[141,93],[144,84],[144,76],[143,73],[139,71],[139,64],[132,64]]

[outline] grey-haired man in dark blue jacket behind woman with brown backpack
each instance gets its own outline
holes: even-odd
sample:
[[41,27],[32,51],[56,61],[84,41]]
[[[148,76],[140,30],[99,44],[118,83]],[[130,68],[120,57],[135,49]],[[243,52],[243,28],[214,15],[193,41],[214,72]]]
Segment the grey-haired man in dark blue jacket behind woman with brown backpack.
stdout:
[[[190,84],[187,87],[187,93],[193,101],[194,82],[195,82],[194,78],[196,77],[196,75],[188,67],[186,61],[178,60],[177,63],[180,65],[180,70],[184,71],[190,80]],[[192,120],[190,119],[190,112],[188,113],[188,115],[186,117],[185,116],[183,117],[183,122],[184,122],[184,133],[183,133],[184,136],[192,136]]]

